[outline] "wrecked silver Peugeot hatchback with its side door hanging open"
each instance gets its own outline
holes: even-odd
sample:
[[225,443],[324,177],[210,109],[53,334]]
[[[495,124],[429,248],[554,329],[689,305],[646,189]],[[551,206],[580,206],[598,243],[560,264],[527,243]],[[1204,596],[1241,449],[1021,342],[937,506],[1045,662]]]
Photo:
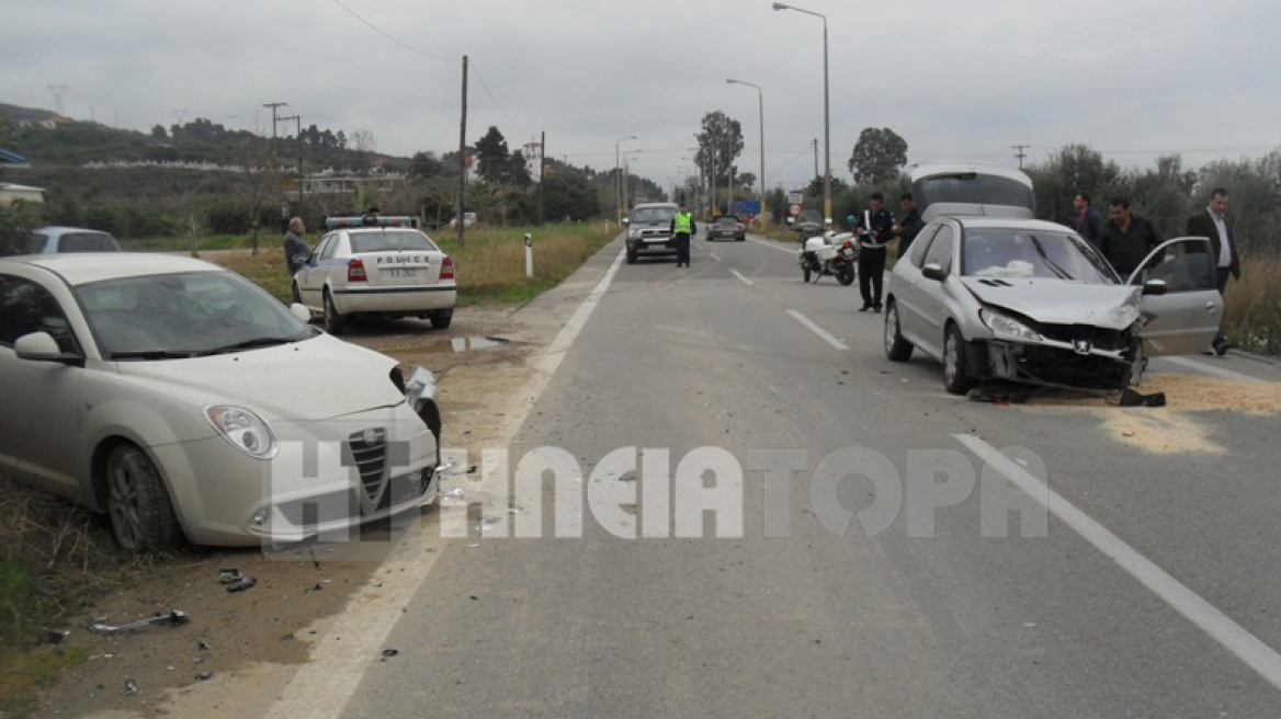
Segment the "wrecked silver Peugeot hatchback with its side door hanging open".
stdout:
[[885,304],[889,360],[942,361],[953,394],[985,379],[1125,389],[1144,357],[1208,347],[1223,315],[1205,238],[1171,239],[1122,279],[1062,225],[985,216],[927,224]]

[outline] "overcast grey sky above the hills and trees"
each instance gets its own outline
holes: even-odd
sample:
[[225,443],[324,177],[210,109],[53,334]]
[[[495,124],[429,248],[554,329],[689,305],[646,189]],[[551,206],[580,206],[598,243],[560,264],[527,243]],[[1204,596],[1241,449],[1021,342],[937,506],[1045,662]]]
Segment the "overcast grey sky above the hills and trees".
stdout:
[[[632,169],[666,187],[702,116],[743,125],[743,171],[813,177],[822,146],[822,20],[771,0],[0,0],[0,102],[146,130],[209,118],[270,132],[264,102],[304,127],[373,133],[411,155],[497,125],[514,148]],[[910,162],[1017,166],[1084,142],[1122,165],[1181,152],[1186,166],[1281,146],[1276,0],[804,0],[826,15],[831,166],[865,127]],[[361,22],[363,18],[365,22]],[[370,27],[371,26],[371,27]],[[389,36],[389,37],[388,37]],[[288,128],[292,128],[290,123]],[[281,132],[288,129],[282,124]],[[290,130],[292,132],[292,130]],[[14,148],[20,151],[20,148]],[[820,157],[821,164],[821,157]],[[821,171],[821,166],[820,166]]]

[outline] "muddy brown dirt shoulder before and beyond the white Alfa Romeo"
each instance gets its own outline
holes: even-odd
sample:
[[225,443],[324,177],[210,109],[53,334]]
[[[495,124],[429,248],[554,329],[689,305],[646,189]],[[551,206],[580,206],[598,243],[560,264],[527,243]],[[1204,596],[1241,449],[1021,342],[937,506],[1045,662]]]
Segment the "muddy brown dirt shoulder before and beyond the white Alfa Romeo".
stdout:
[[[459,308],[448,330],[425,321],[384,321],[354,328],[343,339],[395,357],[404,367],[436,372],[442,445],[478,458],[482,448],[506,439],[511,402],[528,384],[533,360],[580,299],[556,294],[539,298],[537,311]],[[436,508],[423,517],[424,525],[436,519]],[[136,571],[128,589],[105,596],[69,624],[67,645],[90,659],[41,692],[38,714],[260,715],[292,676],[290,665],[306,661],[310,642],[324,635],[327,623],[360,587],[377,582],[377,560],[350,560],[342,550],[336,545],[333,551],[275,558],[256,550],[188,550],[172,564]],[[224,568],[237,568],[257,585],[228,594],[218,583]],[[92,617],[119,624],[169,609],[186,612],[191,622],[120,636],[85,629]],[[204,673],[211,677],[199,679]],[[122,695],[128,679],[137,683],[136,695]]]

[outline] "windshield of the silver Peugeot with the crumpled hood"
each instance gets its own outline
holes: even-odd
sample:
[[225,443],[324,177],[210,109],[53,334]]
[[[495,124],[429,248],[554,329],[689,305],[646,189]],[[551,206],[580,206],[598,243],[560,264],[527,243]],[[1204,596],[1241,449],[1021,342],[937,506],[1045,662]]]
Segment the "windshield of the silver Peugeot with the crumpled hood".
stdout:
[[1114,284],[1116,274],[1084,239],[1062,232],[967,229],[961,249],[971,278],[1058,278]]

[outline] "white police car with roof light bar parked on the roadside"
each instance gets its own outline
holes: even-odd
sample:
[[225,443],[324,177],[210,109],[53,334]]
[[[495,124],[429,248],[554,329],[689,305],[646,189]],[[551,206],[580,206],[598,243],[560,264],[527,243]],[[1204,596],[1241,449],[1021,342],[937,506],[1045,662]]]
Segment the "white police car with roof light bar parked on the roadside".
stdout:
[[414,228],[412,217],[329,217],[329,232],[293,275],[293,301],[339,333],[360,316],[453,319],[453,260]]

